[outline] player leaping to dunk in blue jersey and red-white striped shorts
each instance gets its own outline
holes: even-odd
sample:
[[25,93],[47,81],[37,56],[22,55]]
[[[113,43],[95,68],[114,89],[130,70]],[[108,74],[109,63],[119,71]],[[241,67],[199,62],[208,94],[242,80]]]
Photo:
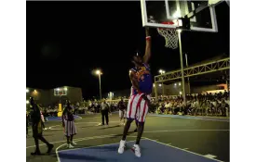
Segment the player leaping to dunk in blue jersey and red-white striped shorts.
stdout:
[[148,66],[148,61],[151,56],[151,37],[149,31],[146,29],[146,48],[143,60],[141,56],[133,56],[132,63],[135,68],[130,69],[129,78],[132,82],[134,89],[133,95],[128,100],[127,122],[123,132],[123,138],[120,141],[118,153],[123,154],[126,146],[126,138],[130,123],[133,119],[138,121],[138,134],[136,143],[133,145],[132,150],[135,156],[141,156],[141,148],[139,146],[141,135],[144,129],[145,117],[148,112],[148,105],[150,104],[150,94],[152,93],[153,81]]

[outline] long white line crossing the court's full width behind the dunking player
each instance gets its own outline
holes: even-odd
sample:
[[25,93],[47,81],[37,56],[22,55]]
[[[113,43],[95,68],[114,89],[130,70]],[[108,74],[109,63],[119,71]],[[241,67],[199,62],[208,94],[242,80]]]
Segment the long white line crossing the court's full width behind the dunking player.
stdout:
[[[230,130],[170,130],[170,131],[143,131],[143,133],[179,132],[179,131],[230,131]],[[120,135],[120,134],[108,134],[108,135],[101,135],[101,136],[116,136],[116,135]],[[101,136],[93,136],[93,137],[101,137]],[[87,138],[91,138],[91,137],[77,138],[77,139],[74,139],[74,141],[80,140],[80,139],[87,139]],[[63,143],[63,142],[66,142],[66,140],[64,140],[64,141],[52,142],[52,143]],[[42,143],[42,144],[39,144],[39,145],[45,145],[45,143]],[[35,145],[30,145],[30,146],[27,146],[26,148],[31,148],[31,147],[34,147],[34,146],[35,146]]]

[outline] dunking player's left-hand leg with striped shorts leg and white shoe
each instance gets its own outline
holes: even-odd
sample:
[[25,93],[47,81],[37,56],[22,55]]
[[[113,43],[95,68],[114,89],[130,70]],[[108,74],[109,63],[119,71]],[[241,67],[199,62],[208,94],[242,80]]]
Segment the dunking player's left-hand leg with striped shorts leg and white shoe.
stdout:
[[119,154],[123,154],[125,151],[125,146],[126,146],[126,138],[127,138],[127,134],[128,134],[128,130],[130,127],[130,123],[133,121],[133,119],[135,118],[136,115],[136,107],[137,107],[137,103],[139,100],[140,95],[136,94],[133,95],[129,98],[128,100],[128,110],[127,110],[127,122],[126,125],[124,127],[124,131],[123,131],[123,137],[122,140],[120,141],[120,145],[118,148],[118,153]]

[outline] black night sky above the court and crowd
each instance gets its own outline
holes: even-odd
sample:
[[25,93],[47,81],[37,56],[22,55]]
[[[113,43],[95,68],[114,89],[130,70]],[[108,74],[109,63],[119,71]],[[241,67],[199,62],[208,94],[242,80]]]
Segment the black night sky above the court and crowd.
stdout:
[[[229,8],[216,6],[218,33],[182,31],[189,64],[229,55]],[[152,33],[153,75],[179,69],[178,50]],[[102,69],[102,93],[128,89],[131,56],[144,53],[140,2],[27,2],[23,8],[23,81],[28,87],[76,86],[88,98],[99,93],[93,69]]]

